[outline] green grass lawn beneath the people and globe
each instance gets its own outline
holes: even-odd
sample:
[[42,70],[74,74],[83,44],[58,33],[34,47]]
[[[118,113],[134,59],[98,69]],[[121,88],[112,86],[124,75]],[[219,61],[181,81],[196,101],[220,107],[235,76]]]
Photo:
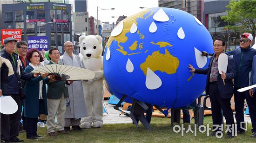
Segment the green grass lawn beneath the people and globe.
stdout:
[[[182,122],[182,121],[181,121]],[[204,123],[210,123],[211,116],[207,116],[204,119]],[[208,142],[225,142],[225,143],[256,143],[256,138],[251,138],[251,124],[249,124],[249,130],[246,134],[235,136],[234,138],[217,138],[215,136],[207,136],[207,133],[200,133],[197,131],[197,136],[194,133],[185,133],[189,124],[184,124],[186,130],[184,136],[181,136],[181,132],[175,133],[170,126],[170,118],[152,117],[151,127],[152,130],[146,130],[142,124],[139,124],[140,128],[136,128],[132,123],[120,123],[120,124],[104,124],[103,128],[83,129],[82,131],[72,131],[67,135],[57,134],[57,136],[48,136],[47,128],[38,127],[38,134],[43,135],[36,141],[26,139],[26,132],[20,133],[19,138],[24,139],[25,142],[33,143],[125,143],[125,142],[164,142],[164,143],[208,143]],[[191,128],[194,130],[194,119],[191,121]],[[211,131],[210,131],[211,133]]]

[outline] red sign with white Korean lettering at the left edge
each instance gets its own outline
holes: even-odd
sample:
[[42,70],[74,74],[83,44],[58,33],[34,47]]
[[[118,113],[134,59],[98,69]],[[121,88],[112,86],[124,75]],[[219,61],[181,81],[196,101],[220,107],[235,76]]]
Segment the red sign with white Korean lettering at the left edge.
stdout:
[[2,44],[4,44],[4,39],[12,37],[18,42],[21,41],[21,29],[2,29],[1,30]]

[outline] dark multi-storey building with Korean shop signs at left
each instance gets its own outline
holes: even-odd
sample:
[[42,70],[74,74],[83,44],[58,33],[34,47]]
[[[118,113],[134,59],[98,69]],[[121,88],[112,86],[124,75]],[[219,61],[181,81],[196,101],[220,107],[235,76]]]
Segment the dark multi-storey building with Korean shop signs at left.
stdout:
[[2,5],[2,29],[22,29],[22,40],[30,36],[47,36],[48,49],[71,40],[71,5],[54,2]]

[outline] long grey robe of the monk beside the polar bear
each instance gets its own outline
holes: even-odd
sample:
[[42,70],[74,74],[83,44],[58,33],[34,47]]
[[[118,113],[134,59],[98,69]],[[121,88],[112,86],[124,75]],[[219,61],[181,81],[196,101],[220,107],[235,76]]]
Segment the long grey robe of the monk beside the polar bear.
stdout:
[[[60,58],[63,65],[82,67],[79,56],[72,54],[72,58],[64,52]],[[65,113],[65,118],[78,119],[86,116],[84,93],[81,80],[74,81],[73,84],[67,85],[69,104]],[[66,122],[66,121],[65,121]],[[79,123],[80,124],[80,123]],[[66,125],[65,125],[66,126]]]

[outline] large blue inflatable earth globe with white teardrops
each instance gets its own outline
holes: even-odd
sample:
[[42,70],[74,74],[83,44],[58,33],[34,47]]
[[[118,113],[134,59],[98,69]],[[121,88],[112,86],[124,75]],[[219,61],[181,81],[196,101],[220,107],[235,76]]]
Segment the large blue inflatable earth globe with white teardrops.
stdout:
[[173,8],[149,8],[120,21],[105,47],[103,70],[109,90],[125,102],[160,107],[191,104],[205,90],[201,51],[213,52],[212,37],[193,15]]

